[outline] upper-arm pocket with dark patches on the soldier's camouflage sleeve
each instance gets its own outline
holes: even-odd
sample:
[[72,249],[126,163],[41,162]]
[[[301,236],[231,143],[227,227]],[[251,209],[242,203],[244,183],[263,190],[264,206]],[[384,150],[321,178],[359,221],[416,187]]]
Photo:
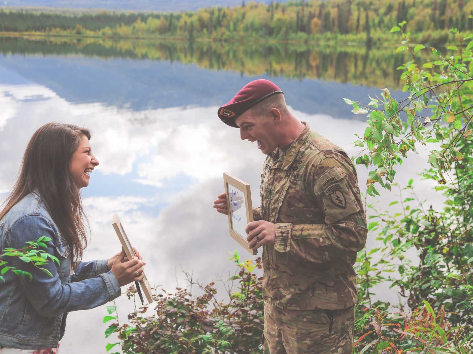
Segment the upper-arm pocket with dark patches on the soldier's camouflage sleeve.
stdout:
[[346,172],[338,166],[318,178],[314,193],[324,204],[326,222],[336,222],[360,210],[348,185]]

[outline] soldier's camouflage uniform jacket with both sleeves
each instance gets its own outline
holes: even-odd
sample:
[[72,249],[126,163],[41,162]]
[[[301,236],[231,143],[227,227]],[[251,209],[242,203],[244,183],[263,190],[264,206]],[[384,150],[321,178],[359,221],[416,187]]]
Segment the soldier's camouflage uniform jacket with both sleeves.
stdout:
[[365,211],[346,152],[304,124],[286,152],[264,162],[253,214],[275,224],[275,243],[263,245],[263,298],[288,310],[342,309],[357,302]]

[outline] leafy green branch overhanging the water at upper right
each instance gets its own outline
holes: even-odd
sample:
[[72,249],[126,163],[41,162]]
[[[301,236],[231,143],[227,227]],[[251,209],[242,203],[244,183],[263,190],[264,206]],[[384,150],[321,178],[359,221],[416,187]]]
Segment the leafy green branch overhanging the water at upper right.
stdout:
[[[354,143],[366,148],[352,159],[356,159],[357,164],[375,168],[369,171],[367,180],[367,193],[372,196],[379,195],[376,183],[391,190],[395,165],[402,164],[408,151],[417,153],[417,143],[441,143],[441,150],[430,150],[428,162],[437,171],[438,183],[445,184],[444,174],[464,158],[456,149],[457,144],[472,135],[473,72],[466,63],[472,60],[473,41],[469,36],[462,37],[462,41],[470,42],[464,48],[455,47],[460,55],[450,57],[442,56],[431,47],[432,54],[438,58],[420,65],[416,53],[426,48],[423,44],[410,45],[405,23],[394,26],[391,32],[402,31],[403,41],[397,51],[407,50],[412,55],[412,60],[398,67],[404,69],[403,90],[408,91],[409,96],[398,101],[385,88],[381,98],[368,96],[367,105],[344,98],[353,106],[354,114],[368,114],[368,127],[362,137],[356,135],[358,140]],[[462,36],[456,29],[453,32]],[[431,117],[423,114],[428,108],[433,113]]]

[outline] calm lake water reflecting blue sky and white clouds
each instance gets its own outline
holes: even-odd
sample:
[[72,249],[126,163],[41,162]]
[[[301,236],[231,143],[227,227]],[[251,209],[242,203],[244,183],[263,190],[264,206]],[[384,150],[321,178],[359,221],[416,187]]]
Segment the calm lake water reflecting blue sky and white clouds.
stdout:
[[[152,285],[171,292],[176,282],[186,286],[181,269],[207,283],[234,272],[227,251],[239,249],[245,259],[254,258],[228,236],[227,219],[212,208],[212,201],[223,191],[222,172],[228,171],[251,184],[253,205],[259,205],[265,156],[255,144],[241,141],[237,129],[221,123],[216,115],[220,105],[249,81],[271,79],[296,117],[354,155],[351,142],[354,133],[363,134],[364,118],[355,119],[342,97],[366,101],[368,94],[379,92],[336,78],[252,74],[248,64],[246,71],[230,64],[219,70],[166,56],[15,52],[0,43],[0,199],[12,187],[26,143],[39,126],[60,121],[90,128],[100,166],[83,189],[92,229],[84,259],[118,252],[111,225],[118,213],[148,263]],[[393,81],[392,73],[386,76]],[[398,182],[406,183],[426,161],[420,149],[420,155],[398,170]],[[359,168],[358,173],[364,192],[367,171]],[[419,187],[421,195],[430,193],[430,185]],[[380,206],[392,198],[383,194]],[[438,202],[435,198],[429,203]],[[375,244],[375,236],[369,236],[368,247]],[[223,288],[219,290],[224,298]],[[378,295],[396,301],[386,288],[379,288]],[[121,297],[117,304],[123,323],[132,303]],[[105,344],[115,341],[103,335],[105,314],[105,307],[70,313],[61,342],[64,352],[105,353]]]

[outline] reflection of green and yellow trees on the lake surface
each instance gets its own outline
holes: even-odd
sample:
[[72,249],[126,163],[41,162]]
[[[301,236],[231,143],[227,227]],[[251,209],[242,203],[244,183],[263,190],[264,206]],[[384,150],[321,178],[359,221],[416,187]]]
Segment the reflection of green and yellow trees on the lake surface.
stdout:
[[[0,55],[83,55],[100,58],[164,60],[197,64],[210,70],[232,70],[248,76],[322,79],[400,89],[406,51],[392,47],[317,46],[273,43],[214,43],[189,41],[111,40],[104,38],[0,37]],[[430,59],[418,52],[419,62]]]

